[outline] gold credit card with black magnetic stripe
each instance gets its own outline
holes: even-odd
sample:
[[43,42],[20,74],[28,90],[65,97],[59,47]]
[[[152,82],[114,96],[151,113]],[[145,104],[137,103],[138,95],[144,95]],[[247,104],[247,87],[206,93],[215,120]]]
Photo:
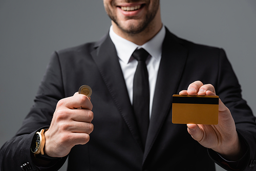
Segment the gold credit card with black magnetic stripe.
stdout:
[[173,95],[173,123],[218,124],[219,96]]

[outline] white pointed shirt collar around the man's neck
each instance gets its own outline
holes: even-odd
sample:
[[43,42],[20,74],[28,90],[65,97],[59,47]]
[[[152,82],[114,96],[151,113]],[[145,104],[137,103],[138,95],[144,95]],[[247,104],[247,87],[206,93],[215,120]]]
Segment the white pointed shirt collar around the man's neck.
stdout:
[[162,54],[162,43],[165,37],[165,29],[162,26],[161,30],[142,46],[136,45],[133,42],[126,40],[113,31],[113,26],[110,27],[110,38],[113,41],[117,56],[124,62],[129,63],[133,52],[138,48],[144,48],[152,57],[158,60]]

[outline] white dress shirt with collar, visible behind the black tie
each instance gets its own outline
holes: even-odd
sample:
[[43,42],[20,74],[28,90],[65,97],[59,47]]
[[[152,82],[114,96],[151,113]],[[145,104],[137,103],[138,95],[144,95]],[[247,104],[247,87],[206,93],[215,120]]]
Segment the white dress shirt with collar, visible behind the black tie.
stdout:
[[162,26],[162,29],[150,41],[147,41],[142,46],[139,46],[120,37],[113,31],[113,26],[110,27],[110,38],[116,47],[117,56],[119,57],[120,66],[123,72],[131,104],[133,104],[133,78],[138,65],[138,61],[132,57],[132,54],[137,48],[144,48],[150,54],[150,57],[148,57],[146,60],[148,81],[150,84],[150,118],[164,37],[165,29],[164,26]]

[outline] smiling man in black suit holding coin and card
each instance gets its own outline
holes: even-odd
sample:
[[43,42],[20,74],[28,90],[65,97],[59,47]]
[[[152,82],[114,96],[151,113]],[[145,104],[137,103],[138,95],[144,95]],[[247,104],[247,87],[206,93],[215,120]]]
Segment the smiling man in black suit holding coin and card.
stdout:
[[[215,170],[214,162],[255,169],[255,117],[225,52],[170,33],[157,0],[103,2],[109,34],[53,54],[22,128],[1,148],[1,169],[56,170],[68,156],[68,170]],[[145,139],[133,108],[133,52],[140,48],[148,53]],[[82,84],[92,87],[91,98],[75,93]],[[178,93],[217,94],[219,124],[173,124]],[[42,129],[44,153],[33,154],[33,137]]]

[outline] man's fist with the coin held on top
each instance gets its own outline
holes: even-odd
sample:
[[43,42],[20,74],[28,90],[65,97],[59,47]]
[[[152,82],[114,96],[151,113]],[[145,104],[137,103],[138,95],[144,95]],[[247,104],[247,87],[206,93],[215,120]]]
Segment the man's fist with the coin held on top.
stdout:
[[89,134],[93,131],[92,108],[90,98],[78,93],[59,100],[50,128],[45,133],[45,153],[48,156],[67,156],[74,145],[89,141]]

